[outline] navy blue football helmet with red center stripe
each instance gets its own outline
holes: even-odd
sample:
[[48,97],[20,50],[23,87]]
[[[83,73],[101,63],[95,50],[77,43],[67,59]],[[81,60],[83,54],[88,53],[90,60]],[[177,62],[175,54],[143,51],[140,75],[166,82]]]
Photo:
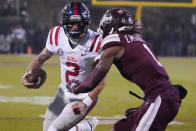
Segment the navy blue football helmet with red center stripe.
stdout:
[[[90,23],[90,12],[87,6],[81,2],[70,2],[62,9],[61,25],[68,37],[77,39],[80,35],[86,33]],[[70,25],[77,24],[77,30],[71,30]]]

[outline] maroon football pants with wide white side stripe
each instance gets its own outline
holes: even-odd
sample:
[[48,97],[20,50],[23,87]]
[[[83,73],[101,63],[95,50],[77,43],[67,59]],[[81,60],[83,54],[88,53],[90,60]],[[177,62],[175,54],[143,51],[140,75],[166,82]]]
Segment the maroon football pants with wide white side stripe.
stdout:
[[180,107],[176,96],[173,88],[153,94],[127,118],[115,123],[115,131],[164,131]]

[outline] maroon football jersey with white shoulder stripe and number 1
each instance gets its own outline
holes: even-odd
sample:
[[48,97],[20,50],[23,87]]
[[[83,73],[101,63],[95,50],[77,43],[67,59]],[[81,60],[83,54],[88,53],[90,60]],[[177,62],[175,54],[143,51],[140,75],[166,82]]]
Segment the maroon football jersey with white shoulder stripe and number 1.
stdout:
[[137,84],[145,94],[161,85],[169,84],[169,77],[164,67],[152,53],[149,45],[133,35],[112,34],[103,41],[103,50],[112,46],[124,46],[122,58],[114,64],[121,75]]

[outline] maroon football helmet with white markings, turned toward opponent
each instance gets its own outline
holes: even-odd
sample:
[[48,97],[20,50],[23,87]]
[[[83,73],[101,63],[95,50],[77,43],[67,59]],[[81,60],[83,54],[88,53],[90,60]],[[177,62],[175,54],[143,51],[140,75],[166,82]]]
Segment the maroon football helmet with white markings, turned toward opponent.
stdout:
[[107,10],[103,15],[98,32],[106,37],[109,34],[122,33],[132,34],[134,32],[134,20],[124,9]]

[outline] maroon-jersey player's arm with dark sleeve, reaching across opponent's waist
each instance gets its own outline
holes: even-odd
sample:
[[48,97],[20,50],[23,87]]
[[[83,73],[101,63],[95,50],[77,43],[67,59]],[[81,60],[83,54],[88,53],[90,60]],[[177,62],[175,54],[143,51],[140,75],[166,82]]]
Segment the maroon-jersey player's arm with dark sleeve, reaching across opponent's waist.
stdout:
[[92,91],[108,73],[114,59],[118,59],[122,56],[122,51],[124,51],[124,47],[120,46],[105,49],[95,69],[93,69],[80,86],[73,89],[73,93],[78,94]]

